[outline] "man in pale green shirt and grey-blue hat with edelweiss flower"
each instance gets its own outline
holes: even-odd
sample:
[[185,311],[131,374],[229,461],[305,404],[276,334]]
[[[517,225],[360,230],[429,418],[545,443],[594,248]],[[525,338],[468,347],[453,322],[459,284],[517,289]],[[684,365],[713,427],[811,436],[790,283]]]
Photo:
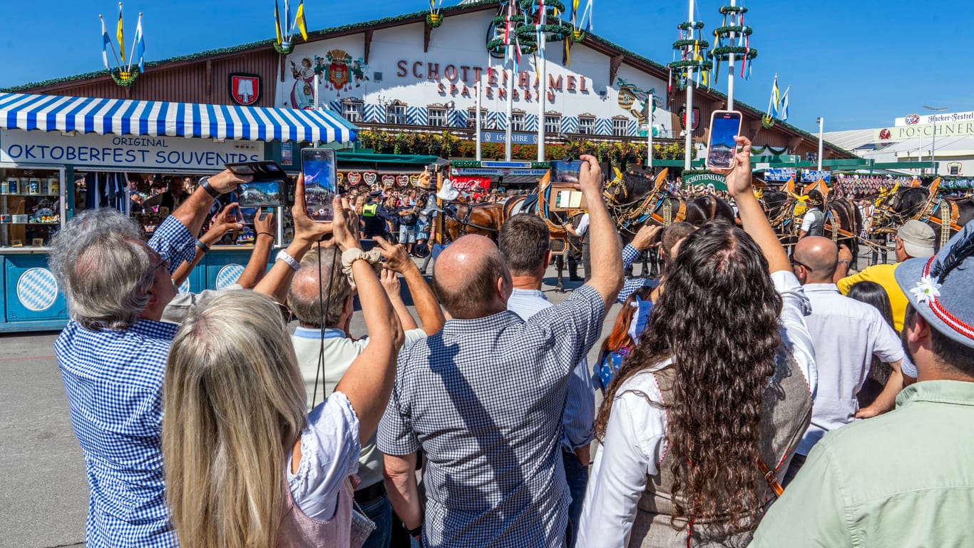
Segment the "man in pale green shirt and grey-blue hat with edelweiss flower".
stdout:
[[974,536],[974,224],[897,266],[918,382],[896,411],[829,432],[752,547],[968,546]]

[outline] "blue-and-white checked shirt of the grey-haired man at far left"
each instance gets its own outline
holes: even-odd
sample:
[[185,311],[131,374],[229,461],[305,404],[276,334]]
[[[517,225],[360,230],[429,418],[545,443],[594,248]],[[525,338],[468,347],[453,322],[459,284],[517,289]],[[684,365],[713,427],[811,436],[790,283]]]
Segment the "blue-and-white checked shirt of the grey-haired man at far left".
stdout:
[[[170,216],[149,247],[169,255],[171,273],[193,258],[195,242]],[[127,330],[93,332],[68,322],[55,342],[92,489],[88,548],[177,545],[169,527],[160,439],[163,372],[176,327],[139,320]]]

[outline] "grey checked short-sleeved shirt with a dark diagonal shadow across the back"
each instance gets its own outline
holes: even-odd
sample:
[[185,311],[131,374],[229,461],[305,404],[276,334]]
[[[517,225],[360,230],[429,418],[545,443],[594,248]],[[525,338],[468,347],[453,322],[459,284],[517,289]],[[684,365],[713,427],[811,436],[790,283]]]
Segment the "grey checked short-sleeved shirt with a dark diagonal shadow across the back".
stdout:
[[378,447],[429,464],[424,545],[556,547],[571,499],[560,445],[569,376],[602,332],[588,286],[522,321],[449,320],[399,354]]

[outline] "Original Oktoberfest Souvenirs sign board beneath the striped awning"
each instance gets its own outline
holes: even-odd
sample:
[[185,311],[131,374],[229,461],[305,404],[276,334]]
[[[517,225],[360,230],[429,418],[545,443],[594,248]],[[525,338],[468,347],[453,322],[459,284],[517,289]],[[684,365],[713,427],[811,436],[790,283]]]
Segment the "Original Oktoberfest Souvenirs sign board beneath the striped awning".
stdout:
[[262,142],[0,131],[0,162],[211,171],[263,159]]

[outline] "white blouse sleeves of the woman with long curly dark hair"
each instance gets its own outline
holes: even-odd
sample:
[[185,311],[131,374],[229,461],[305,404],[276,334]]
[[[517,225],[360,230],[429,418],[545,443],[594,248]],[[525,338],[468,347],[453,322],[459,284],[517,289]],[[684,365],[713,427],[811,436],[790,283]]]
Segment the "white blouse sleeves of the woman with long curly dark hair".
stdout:
[[[795,356],[809,390],[814,393],[817,373],[814,348],[805,327],[807,298],[793,273],[775,272],[771,279],[784,301],[779,318],[782,340]],[[666,411],[651,405],[646,398],[662,403],[654,372],[671,363],[672,359],[666,360],[638,372],[619,386],[605,439],[595,455],[585,489],[578,546],[623,548],[628,545],[636,505],[646,490],[648,477],[659,473],[657,465],[667,447]]]

